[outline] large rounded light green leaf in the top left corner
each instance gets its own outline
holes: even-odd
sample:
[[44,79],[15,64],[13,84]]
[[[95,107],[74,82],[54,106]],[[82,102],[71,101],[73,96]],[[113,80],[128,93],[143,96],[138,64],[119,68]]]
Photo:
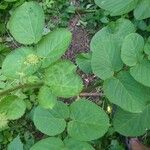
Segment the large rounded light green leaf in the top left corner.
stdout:
[[25,2],[12,14],[7,28],[22,44],[37,43],[44,29],[44,12],[36,2]]

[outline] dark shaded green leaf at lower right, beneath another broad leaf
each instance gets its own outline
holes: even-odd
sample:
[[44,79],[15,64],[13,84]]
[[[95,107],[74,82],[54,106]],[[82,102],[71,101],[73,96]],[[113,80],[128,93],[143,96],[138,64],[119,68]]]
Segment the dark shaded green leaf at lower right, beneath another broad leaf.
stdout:
[[150,105],[142,113],[130,113],[121,109],[114,116],[113,125],[124,136],[141,136],[150,129]]

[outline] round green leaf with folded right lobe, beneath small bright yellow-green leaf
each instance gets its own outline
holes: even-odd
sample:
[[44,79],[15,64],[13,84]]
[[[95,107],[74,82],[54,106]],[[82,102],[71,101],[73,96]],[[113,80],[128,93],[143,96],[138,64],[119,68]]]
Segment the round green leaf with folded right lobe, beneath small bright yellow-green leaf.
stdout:
[[63,102],[58,102],[53,109],[49,110],[38,106],[34,111],[33,121],[42,133],[55,136],[65,130],[65,119],[68,116],[68,107]]

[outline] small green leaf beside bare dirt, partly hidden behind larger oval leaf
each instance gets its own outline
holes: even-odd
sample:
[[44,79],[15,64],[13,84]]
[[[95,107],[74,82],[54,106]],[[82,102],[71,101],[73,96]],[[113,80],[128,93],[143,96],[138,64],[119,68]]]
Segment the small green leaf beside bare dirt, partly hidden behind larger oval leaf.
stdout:
[[76,58],[77,65],[85,73],[92,73],[91,58],[91,53],[81,53]]

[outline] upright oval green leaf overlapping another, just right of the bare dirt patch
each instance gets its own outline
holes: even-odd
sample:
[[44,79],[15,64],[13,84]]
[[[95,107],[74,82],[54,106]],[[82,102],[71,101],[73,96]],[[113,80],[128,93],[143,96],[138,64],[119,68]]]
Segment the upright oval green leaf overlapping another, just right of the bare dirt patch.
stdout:
[[91,61],[92,70],[98,77],[105,80],[123,67],[118,41],[111,35],[103,37],[97,44],[96,41],[92,44],[95,46]]

